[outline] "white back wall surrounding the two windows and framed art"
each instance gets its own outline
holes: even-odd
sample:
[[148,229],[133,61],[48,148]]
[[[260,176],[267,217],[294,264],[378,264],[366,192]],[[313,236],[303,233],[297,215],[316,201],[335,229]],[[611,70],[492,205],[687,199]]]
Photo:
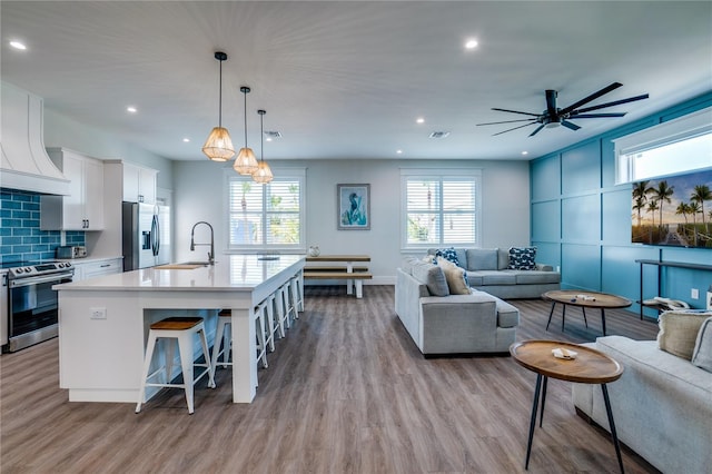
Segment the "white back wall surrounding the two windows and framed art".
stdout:
[[[270,166],[306,168],[306,245],[322,254],[368,254],[373,284],[393,284],[400,265],[400,168],[478,168],[483,177],[482,247],[528,245],[530,175],[527,161],[482,160],[289,160]],[[189,250],[190,229],[199,220],[215,228],[217,259],[227,244],[225,166],[176,161],[174,166],[175,256],[202,259],[207,247]],[[337,230],[336,185],[370,184],[370,230]],[[209,241],[206,227],[197,241]]]

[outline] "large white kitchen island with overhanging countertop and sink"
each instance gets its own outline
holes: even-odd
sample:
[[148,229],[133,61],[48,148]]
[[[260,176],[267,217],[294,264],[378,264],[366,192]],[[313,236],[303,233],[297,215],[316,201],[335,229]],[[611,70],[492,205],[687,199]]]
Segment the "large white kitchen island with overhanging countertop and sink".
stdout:
[[233,402],[250,403],[257,389],[255,307],[300,278],[304,263],[301,255],[231,255],[211,266],[164,266],[56,285],[60,387],[69,389],[70,402],[136,403],[152,323],[202,316],[210,343],[217,312],[230,309]]

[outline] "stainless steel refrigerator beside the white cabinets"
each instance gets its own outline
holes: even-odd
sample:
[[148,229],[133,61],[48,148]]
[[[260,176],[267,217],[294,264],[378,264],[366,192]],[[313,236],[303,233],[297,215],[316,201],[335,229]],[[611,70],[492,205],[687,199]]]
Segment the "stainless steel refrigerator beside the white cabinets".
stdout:
[[123,203],[123,271],[170,263],[170,208]]

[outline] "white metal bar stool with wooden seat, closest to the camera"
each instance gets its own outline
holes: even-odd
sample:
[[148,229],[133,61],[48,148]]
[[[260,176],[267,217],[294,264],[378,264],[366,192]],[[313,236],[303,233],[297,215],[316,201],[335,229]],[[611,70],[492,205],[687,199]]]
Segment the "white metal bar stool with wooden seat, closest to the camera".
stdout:
[[[202,346],[202,355],[205,364],[194,363],[192,336],[198,335]],[[174,368],[174,344],[172,340],[166,340],[164,348],[165,364],[149,375],[154,350],[159,339],[176,339],[178,343],[178,352],[180,354],[180,366],[182,372],[182,384],[171,384],[171,375]],[[210,371],[210,358],[208,354],[208,342],[205,336],[205,324],[201,317],[168,317],[154,323],[148,332],[148,346],[146,357],[144,358],[144,373],[141,376],[141,387],[139,389],[139,398],[136,404],[136,413],[141,411],[141,404],[146,398],[146,387],[176,387],[186,392],[186,402],[188,403],[188,413],[192,414],[192,394],[194,385],[208,374],[208,386],[215,386],[212,381],[212,372]],[[204,367],[197,377],[194,378],[192,369],[195,367]],[[149,383],[148,381],[159,373],[164,373],[164,383]]]

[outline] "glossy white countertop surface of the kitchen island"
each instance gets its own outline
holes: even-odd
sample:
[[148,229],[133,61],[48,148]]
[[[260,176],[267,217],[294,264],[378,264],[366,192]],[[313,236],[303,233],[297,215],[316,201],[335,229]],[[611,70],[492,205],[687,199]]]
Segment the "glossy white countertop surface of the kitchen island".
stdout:
[[87,280],[56,285],[59,290],[167,290],[167,292],[234,292],[253,290],[268,283],[285,269],[304,261],[304,255],[226,255],[215,265],[188,265],[195,268],[154,268],[106,275]]

